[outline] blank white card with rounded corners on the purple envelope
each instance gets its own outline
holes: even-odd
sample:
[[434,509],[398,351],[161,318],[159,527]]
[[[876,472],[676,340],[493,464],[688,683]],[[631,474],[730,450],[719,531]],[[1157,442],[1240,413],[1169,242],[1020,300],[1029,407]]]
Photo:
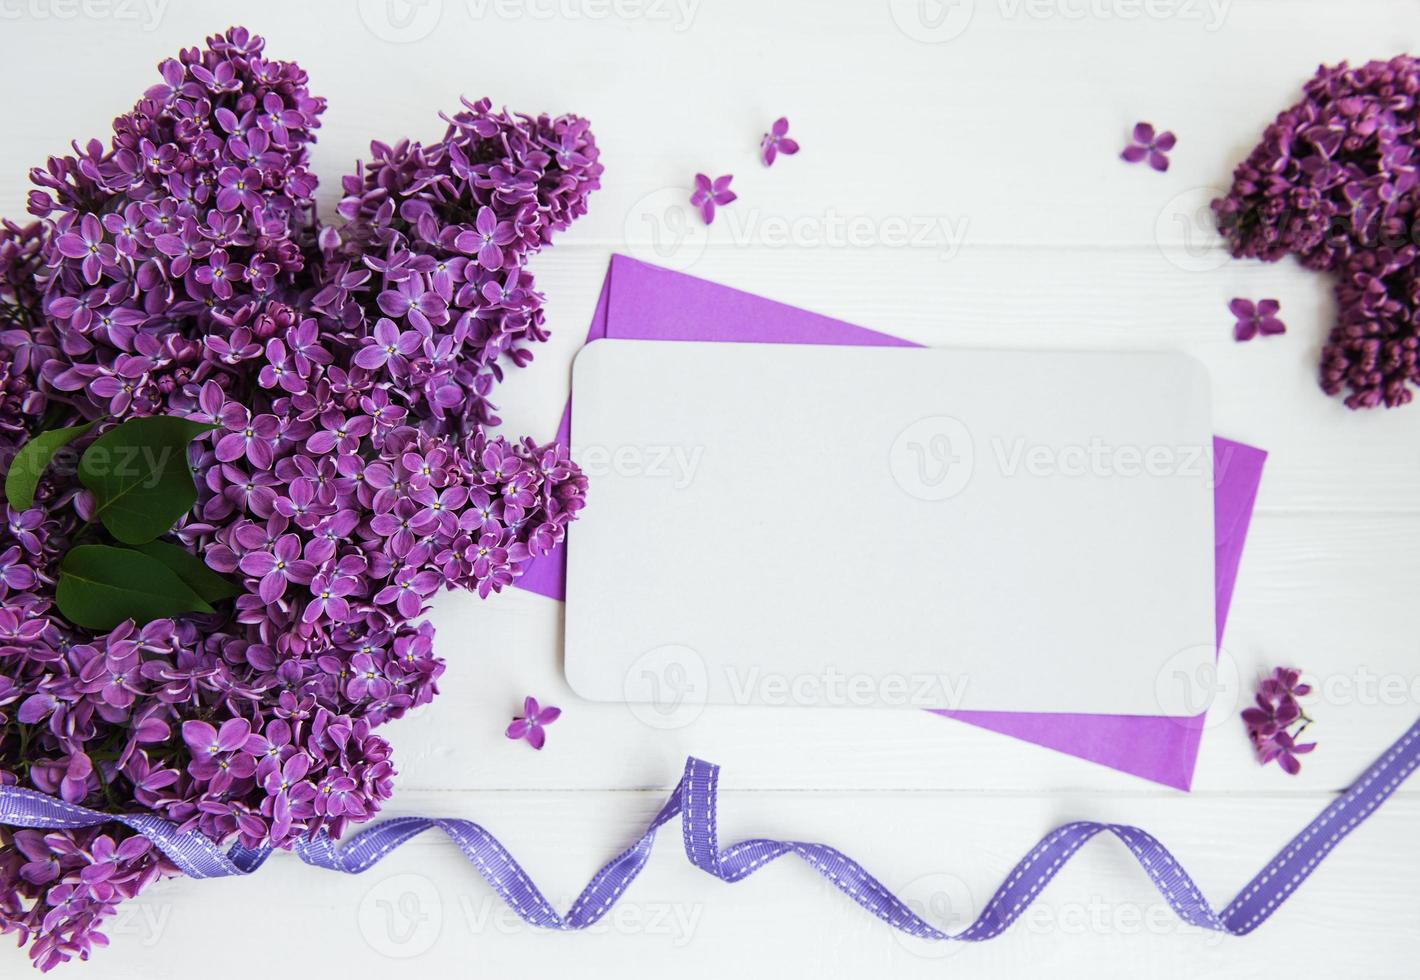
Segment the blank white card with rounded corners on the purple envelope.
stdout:
[[1216,653],[1180,354],[601,339],[567,676],[594,700],[1189,714]]

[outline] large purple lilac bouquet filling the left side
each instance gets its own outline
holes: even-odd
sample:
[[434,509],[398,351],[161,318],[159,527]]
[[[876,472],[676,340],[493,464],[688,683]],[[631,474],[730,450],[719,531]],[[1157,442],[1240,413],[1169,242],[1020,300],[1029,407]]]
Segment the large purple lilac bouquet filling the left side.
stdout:
[[[582,506],[565,449],[488,435],[488,396],[547,337],[525,261],[602,168],[577,116],[463,102],[436,143],[373,143],[322,227],[297,64],[231,28],[159,77],[0,232],[0,454],[85,452],[0,528],[0,783],[288,848],[389,798],[375,729],[443,670],[427,598],[501,589]],[[196,486],[135,555],[84,447],[146,416],[197,433]],[[101,526],[119,547],[85,544]],[[200,598],[78,625],[85,551],[163,558]],[[0,932],[41,969],[84,959],[173,871],[116,824],[0,829]]]

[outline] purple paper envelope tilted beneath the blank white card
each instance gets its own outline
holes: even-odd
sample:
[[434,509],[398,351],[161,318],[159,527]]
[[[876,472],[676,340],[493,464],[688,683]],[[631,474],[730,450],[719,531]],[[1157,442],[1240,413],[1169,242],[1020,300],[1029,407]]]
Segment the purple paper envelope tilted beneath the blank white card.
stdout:
[[[845,324],[807,310],[741,293],[667,268],[612,256],[592,315],[588,342],[604,337],[640,341],[738,341],[758,344],[845,344],[916,347],[899,337]],[[558,442],[571,433],[571,402]],[[1228,616],[1238,560],[1252,518],[1252,503],[1267,453],[1214,439],[1214,544],[1218,642]],[[520,588],[554,599],[565,597],[567,554],[531,562]],[[1198,758],[1203,716],[1054,714],[1015,712],[937,712],[949,717],[1034,741],[1146,780],[1187,790]]]

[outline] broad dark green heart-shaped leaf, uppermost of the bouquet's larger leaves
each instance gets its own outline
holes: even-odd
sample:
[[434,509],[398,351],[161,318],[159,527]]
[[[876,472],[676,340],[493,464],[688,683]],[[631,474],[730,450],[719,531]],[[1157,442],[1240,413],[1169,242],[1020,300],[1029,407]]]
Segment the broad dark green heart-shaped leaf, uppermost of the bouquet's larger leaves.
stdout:
[[94,440],[80,459],[80,481],[95,517],[124,544],[146,544],[197,503],[187,443],[214,425],[155,415],[129,419]]

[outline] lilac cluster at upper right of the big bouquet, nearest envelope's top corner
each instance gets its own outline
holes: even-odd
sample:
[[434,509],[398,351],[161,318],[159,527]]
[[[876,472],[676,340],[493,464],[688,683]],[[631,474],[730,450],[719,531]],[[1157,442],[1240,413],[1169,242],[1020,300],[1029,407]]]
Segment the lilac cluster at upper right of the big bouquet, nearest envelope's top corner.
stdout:
[[547,339],[523,266],[586,212],[602,172],[585,119],[463,102],[430,146],[375,142],[344,179],[345,226],[321,234],[311,304],[364,345],[355,365],[399,386],[433,432],[491,423],[500,358]]

